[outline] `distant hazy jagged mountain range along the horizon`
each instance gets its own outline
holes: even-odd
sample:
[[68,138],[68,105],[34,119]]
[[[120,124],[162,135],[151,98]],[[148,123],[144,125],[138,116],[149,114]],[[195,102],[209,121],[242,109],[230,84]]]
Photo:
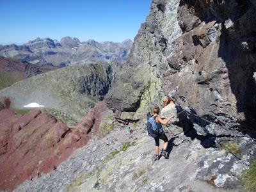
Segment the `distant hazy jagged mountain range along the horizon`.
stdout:
[[24,45],[1,45],[0,56],[28,61],[38,65],[68,66],[92,61],[125,61],[132,46],[131,40],[122,43],[80,42],[66,36],[60,42],[51,38],[36,38]]

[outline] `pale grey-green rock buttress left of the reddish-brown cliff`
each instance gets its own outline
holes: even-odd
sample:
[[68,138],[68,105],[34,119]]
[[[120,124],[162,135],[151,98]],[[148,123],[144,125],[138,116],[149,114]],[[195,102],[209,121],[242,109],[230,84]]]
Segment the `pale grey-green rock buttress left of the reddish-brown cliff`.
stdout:
[[[145,117],[163,98],[159,65],[163,52],[182,31],[177,21],[179,1],[153,1],[147,21],[134,39],[129,58],[106,97],[110,108]],[[168,44],[167,44],[168,43]]]

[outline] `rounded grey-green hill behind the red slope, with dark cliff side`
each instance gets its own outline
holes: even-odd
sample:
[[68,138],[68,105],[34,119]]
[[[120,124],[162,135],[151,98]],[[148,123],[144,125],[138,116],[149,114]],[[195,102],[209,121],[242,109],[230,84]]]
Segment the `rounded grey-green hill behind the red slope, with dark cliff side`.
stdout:
[[40,74],[0,91],[0,97],[12,100],[12,108],[24,109],[31,102],[68,125],[76,125],[102,100],[109,90],[112,70],[108,63],[65,67]]

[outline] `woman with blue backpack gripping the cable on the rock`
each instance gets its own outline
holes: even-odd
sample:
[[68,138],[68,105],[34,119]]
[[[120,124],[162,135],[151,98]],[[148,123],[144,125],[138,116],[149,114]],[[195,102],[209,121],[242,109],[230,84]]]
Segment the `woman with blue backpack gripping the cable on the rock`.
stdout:
[[[159,115],[159,107],[155,106],[153,109],[153,116],[149,116],[148,115],[148,122],[147,122],[147,130],[148,130],[148,134],[150,136],[152,136],[152,138],[154,138],[155,143],[156,143],[156,147],[155,147],[155,151],[156,151],[156,156],[154,158],[154,160],[159,160],[161,156],[164,156],[166,159],[168,159],[167,153],[166,153],[166,149],[168,147],[168,138],[166,136],[166,134],[163,131],[163,125],[168,124],[168,122],[170,122],[171,118],[173,118],[173,116],[170,116],[166,119],[161,119]],[[161,152],[161,155],[159,155],[159,139],[164,141],[164,145],[163,145],[163,150]]]

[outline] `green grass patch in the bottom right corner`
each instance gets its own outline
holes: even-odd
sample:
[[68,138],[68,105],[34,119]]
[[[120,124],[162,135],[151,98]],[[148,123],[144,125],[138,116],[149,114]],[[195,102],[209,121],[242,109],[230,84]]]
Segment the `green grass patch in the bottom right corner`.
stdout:
[[250,169],[244,172],[241,178],[244,191],[256,191],[256,161],[250,165]]

